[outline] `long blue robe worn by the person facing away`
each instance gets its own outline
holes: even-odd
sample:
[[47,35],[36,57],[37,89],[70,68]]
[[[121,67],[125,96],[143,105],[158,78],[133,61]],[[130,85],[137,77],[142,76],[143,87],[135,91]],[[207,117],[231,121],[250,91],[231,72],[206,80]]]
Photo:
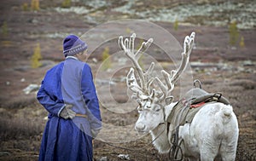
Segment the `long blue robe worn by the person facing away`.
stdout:
[[[90,129],[101,129],[102,118],[90,66],[67,57],[45,74],[37,97],[49,112],[38,160],[93,160]],[[65,104],[88,118],[61,118]]]

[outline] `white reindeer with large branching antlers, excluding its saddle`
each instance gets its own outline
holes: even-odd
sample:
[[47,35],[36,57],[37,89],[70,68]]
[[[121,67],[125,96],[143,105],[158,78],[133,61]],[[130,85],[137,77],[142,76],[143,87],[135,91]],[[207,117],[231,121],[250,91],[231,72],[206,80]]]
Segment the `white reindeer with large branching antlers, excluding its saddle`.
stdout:
[[[222,160],[235,160],[236,146],[238,140],[238,124],[236,115],[230,105],[218,101],[212,101],[201,106],[196,112],[191,123],[183,125],[167,123],[167,118],[174,110],[177,102],[172,102],[172,90],[177,79],[182,75],[189,63],[189,55],[193,49],[195,32],[185,37],[183,43],[182,61],[177,70],[168,73],[162,70],[165,83],[158,77],[150,78],[154,69],[154,62],[151,63],[146,72],[138,63],[138,59],[148,49],[153,39],[143,42],[136,51],[134,49],[136,34],[130,38],[119,37],[119,47],[125,51],[125,55],[132,61],[127,74],[127,87],[133,94],[131,97],[137,100],[137,111],[139,118],[135,129],[139,133],[150,133],[154,147],[160,153],[172,152],[171,159],[177,160],[214,160],[221,156]],[[137,78],[139,82],[137,82]],[[152,88],[156,81],[159,89]],[[176,113],[178,114],[178,113]],[[175,118],[177,116],[173,116]],[[173,138],[174,133],[177,138]],[[177,144],[174,145],[174,141]],[[175,156],[174,156],[175,155]]]

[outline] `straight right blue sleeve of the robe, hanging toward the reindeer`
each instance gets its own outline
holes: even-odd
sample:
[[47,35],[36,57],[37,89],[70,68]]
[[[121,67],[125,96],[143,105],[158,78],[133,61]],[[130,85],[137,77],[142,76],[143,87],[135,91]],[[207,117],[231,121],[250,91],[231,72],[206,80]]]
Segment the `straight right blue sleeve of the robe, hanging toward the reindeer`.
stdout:
[[96,95],[96,88],[93,83],[90,66],[84,65],[81,79],[81,90],[86,106],[90,114],[90,127],[91,129],[102,129],[102,118],[99,107],[98,98]]

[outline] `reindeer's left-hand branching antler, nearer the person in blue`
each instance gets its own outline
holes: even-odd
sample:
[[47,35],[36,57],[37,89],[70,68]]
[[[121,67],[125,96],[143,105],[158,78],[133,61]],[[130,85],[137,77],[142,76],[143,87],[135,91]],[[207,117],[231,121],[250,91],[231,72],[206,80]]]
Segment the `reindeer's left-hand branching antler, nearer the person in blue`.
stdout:
[[[140,98],[143,95],[154,95],[154,90],[150,94],[149,86],[154,81],[154,78],[149,78],[149,75],[154,69],[154,62],[148,68],[147,72],[143,72],[142,67],[139,65],[138,60],[143,55],[143,53],[148,49],[150,44],[153,42],[153,38],[149,38],[147,42],[143,42],[141,47],[135,53],[134,50],[134,41],[136,34],[133,33],[129,38],[124,38],[122,36],[119,37],[119,47],[125,51],[125,55],[127,55],[135,66],[135,70],[138,73],[140,85],[137,83],[134,74],[134,68],[131,67],[130,72],[127,74],[126,83],[129,89],[134,92],[133,96],[136,98]],[[143,98],[145,99],[145,98]]]

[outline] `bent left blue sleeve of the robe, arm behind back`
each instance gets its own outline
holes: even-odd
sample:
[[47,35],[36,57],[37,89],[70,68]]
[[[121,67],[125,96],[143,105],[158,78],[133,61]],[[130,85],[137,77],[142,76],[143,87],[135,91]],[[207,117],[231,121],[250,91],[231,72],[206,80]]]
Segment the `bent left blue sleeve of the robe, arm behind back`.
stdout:
[[41,84],[41,88],[38,90],[37,98],[44,108],[53,116],[59,117],[61,110],[65,107],[64,102],[58,101],[55,95],[50,95],[44,89],[44,81]]

